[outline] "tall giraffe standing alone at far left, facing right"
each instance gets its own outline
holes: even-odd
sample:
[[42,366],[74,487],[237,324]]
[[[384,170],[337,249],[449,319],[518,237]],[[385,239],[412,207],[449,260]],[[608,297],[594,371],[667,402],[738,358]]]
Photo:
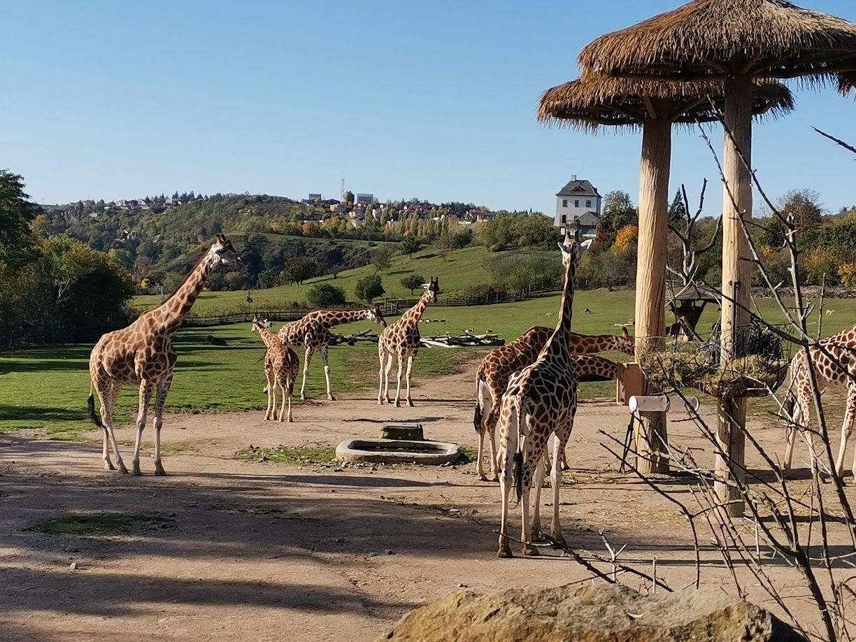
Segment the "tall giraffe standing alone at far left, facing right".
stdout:
[[[143,428],[146,427],[146,410],[152,399],[152,391],[157,390],[155,402],[155,474],[165,475],[161,464],[160,431],[163,425],[163,404],[172,384],[176,354],[172,348],[172,337],[181,326],[187,312],[205,280],[214,268],[221,264],[236,263],[246,265],[241,255],[235,252],[231,241],[217,235],[211,248],[199,263],[185,276],[181,285],[158,307],[143,312],[133,324],[122,330],[114,330],[102,336],[89,356],[89,417],[92,422],[104,430],[104,470],[116,470],[110,461],[109,445],[112,443],[116,465],[122,473],[128,469],[119,455],[116,436],[113,432],[113,411],[123,386],[140,386],[140,404],[137,410],[137,439],[134,443],[132,473],[140,475],[140,445]],[[101,401],[101,417],[95,413],[95,397],[98,393]]]

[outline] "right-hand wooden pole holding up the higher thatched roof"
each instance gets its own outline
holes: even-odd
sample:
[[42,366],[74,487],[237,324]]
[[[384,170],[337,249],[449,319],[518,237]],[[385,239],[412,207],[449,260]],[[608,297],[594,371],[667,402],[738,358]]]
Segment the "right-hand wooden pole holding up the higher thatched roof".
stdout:
[[[729,77],[725,82],[725,152],[722,171],[725,190],[722,203],[722,365],[744,354],[749,325],[752,264],[749,242],[740,225],[752,219],[752,79]],[[733,137],[733,140],[732,140]],[[736,201],[736,206],[735,206]],[[716,455],[716,495],[728,503],[728,514],[740,517],[745,509],[740,490],[726,480],[742,484],[744,468],[746,400],[720,400],[716,439],[726,455]]]

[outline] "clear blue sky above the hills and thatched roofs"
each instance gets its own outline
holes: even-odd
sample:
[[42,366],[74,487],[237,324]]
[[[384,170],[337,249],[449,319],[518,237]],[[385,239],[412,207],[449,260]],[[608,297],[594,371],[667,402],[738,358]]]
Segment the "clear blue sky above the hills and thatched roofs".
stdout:
[[[0,168],[43,203],[176,190],[326,198],[342,173],[381,200],[550,212],[577,174],[635,201],[639,134],[544,128],[535,111],[544,89],[579,75],[584,45],[677,4],[7,1]],[[852,0],[803,6],[856,21]],[[764,187],[853,205],[853,156],[811,131],[856,143],[853,98],[794,91],[793,115],[756,128]],[[676,134],[672,191],[696,193],[705,176],[716,214],[710,152]]]

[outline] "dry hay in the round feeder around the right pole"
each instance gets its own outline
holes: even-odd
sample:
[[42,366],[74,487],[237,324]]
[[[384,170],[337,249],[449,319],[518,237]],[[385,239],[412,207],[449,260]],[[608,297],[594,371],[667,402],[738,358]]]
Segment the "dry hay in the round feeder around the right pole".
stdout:
[[788,361],[753,354],[729,361],[702,377],[698,389],[717,399],[766,396],[775,392],[787,376]]

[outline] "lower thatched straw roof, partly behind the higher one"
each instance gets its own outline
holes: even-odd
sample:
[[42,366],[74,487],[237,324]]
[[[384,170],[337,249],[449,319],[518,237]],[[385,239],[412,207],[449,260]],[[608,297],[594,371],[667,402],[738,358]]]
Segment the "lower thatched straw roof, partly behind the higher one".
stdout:
[[[720,118],[722,94],[722,83],[716,81],[639,81],[585,74],[541,95],[538,122],[586,131],[602,125],[634,127],[649,119],[713,122]],[[756,116],[781,116],[794,109],[794,96],[781,83],[758,83],[752,108]]]

